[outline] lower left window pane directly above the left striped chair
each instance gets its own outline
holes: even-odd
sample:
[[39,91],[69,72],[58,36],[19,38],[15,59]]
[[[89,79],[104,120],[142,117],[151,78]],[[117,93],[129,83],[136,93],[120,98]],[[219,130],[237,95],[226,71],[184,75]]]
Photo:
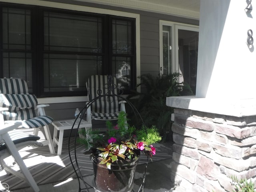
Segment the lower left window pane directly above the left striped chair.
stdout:
[[26,80],[32,92],[32,56],[30,53],[3,53],[3,74],[6,78]]

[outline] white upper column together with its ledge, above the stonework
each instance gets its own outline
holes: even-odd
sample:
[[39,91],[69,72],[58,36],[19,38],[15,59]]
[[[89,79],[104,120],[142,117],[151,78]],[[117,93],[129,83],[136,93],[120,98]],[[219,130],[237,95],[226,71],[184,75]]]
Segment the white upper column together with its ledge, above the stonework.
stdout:
[[256,115],[256,0],[246,10],[249,2],[201,0],[196,96],[168,97],[167,106]]

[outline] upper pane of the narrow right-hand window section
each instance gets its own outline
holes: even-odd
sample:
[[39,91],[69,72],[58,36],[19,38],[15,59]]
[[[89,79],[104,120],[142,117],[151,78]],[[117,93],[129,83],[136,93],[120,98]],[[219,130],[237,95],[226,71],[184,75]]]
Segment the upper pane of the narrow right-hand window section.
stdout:
[[112,51],[114,54],[132,54],[132,22],[112,21]]

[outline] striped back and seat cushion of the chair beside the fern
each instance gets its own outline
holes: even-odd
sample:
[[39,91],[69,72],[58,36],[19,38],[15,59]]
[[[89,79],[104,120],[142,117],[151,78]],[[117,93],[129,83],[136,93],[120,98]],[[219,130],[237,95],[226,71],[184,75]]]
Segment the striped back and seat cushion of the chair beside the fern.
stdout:
[[[86,82],[86,88],[88,92],[88,100],[92,101],[100,95],[108,93],[108,76],[106,75],[92,75],[88,78]],[[112,93],[117,94],[117,82],[116,78],[112,77]],[[110,93],[110,94],[112,94]],[[97,99],[92,103],[91,106],[92,116],[98,114],[98,116],[104,116],[103,114],[108,114],[101,119],[112,119],[118,116],[119,106],[118,97],[116,96],[104,96]],[[93,113],[94,112],[94,113]]]

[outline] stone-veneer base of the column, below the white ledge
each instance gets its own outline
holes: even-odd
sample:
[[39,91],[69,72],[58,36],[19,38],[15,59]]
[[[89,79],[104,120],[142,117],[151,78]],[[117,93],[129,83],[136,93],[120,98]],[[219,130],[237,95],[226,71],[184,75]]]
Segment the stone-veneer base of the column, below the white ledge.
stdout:
[[175,109],[172,181],[176,192],[232,192],[231,176],[256,178],[256,116]]

